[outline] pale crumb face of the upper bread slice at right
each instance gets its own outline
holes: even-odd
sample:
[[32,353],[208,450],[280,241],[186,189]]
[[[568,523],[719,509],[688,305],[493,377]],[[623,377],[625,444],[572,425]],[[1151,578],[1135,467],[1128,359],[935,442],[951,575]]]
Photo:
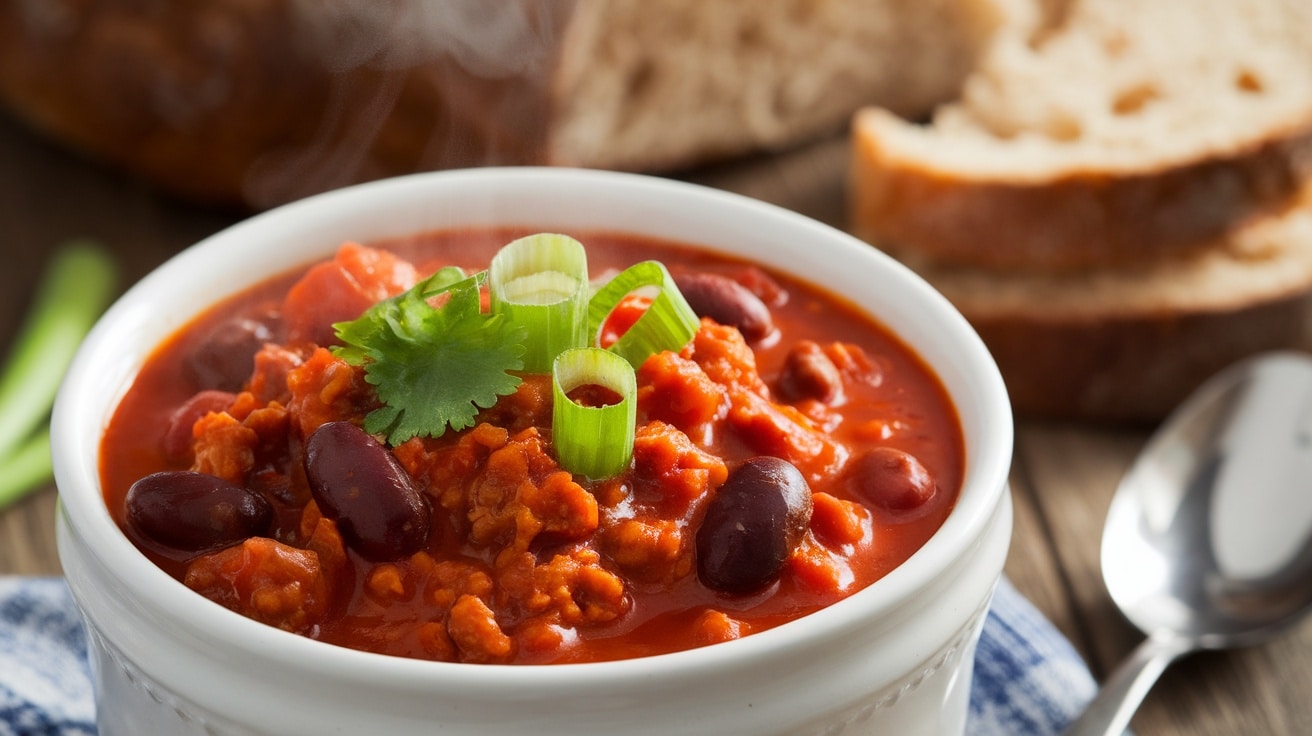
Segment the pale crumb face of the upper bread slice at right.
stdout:
[[1004,33],[932,126],[867,119],[904,157],[1044,178],[1245,153],[1312,122],[1312,3],[1076,0]]

